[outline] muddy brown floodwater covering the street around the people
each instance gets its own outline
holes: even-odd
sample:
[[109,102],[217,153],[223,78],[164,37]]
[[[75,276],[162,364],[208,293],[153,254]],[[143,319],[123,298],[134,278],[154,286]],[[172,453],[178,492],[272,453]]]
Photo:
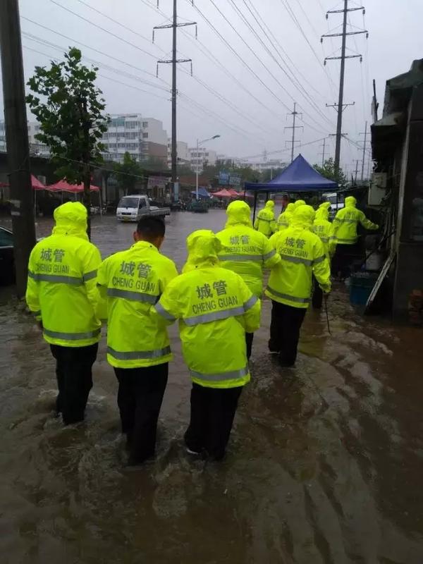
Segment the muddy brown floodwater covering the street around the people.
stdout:
[[[224,212],[173,214],[163,252]],[[6,221],[2,223],[6,224]],[[39,220],[39,235],[50,221]],[[104,256],[133,225],[95,218]],[[0,550],[4,564],[422,564],[422,332],[359,317],[342,291],[309,312],[295,369],[266,352],[226,460],[192,461],[190,381],[176,329],[157,459],[126,472],[116,380],[102,340],[87,421],[54,419],[54,362],[30,316],[0,292]]]

